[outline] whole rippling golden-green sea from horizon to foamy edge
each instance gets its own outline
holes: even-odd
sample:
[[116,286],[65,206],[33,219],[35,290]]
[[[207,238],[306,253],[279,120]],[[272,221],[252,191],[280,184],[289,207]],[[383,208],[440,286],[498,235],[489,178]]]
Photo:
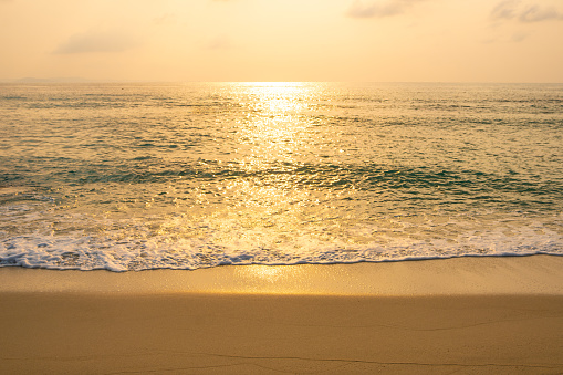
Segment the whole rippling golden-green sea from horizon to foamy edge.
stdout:
[[2,84],[0,267],[563,254],[563,85]]

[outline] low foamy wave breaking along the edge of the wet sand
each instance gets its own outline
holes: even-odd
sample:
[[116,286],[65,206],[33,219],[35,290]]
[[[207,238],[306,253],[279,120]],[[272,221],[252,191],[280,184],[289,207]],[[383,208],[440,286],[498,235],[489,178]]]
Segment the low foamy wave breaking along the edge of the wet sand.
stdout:
[[[195,270],[219,265],[290,265],[385,262],[457,257],[563,256],[563,236],[552,231],[538,235],[523,231],[507,236],[502,231],[467,233],[456,240],[408,238],[379,239],[379,243],[347,244],[338,240],[320,241],[296,235],[291,243],[261,244],[243,241],[246,236],[220,240],[209,238],[112,239],[92,236],[19,236],[0,242],[0,267],[56,270],[110,270],[115,272],[150,269]],[[222,233],[225,237],[225,233]],[[213,238],[216,237],[216,238]],[[262,236],[265,238],[265,236]],[[385,244],[383,244],[385,242]]]

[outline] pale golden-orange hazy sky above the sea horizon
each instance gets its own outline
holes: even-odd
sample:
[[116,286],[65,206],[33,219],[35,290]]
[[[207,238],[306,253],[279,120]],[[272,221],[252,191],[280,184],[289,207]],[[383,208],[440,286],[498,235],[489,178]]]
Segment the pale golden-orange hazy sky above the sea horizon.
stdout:
[[0,0],[0,79],[563,82],[563,0]]

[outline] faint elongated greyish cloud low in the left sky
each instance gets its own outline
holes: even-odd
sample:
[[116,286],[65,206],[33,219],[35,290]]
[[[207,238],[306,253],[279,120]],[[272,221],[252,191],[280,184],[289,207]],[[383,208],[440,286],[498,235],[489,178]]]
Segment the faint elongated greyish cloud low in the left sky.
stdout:
[[139,41],[122,31],[88,31],[74,34],[54,51],[58,54],[124,52],[137,46]]

